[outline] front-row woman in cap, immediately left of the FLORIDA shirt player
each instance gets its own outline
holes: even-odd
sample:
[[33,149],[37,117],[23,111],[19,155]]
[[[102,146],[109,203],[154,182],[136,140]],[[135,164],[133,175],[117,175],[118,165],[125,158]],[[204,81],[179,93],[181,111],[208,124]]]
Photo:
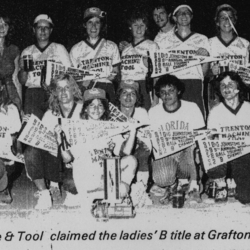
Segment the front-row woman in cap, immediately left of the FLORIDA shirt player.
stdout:
[[[116,104],[120,111],[128,118],[128,121],[149,124],[148,113],[142,107],[139,87],[138,82],[132,80],[121,81],[120,88],[116,94]],[[125,134],[124,136],[128,135]],[[138,161],[136,183],[131,187],[131,197],[135,207],[152,205],[152,201],[146,193],[149,182],[151,149],[151,141],[145,136],[145,130],[143,128],[138,129],[132,150],[132,154]]]

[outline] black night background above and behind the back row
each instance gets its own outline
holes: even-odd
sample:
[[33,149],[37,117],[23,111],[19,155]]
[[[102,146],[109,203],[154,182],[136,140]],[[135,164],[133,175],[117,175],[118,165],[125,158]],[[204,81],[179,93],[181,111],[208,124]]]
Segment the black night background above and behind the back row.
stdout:
[[[152,20],[152,6],[156,0],[1,0],[0,13],[7,13],[14,22],[12,43],[23,50],[34,43],[32,23],[38,14],[52,17],[55,28],[52,40],[63,44],[68,50],[83,36],[82,20],[86,8],[100,7],[107,12],[107,38],[116,43],[129,37],[126,19],[135,8],[145,10],[150,18],[151,38],[157,33]],[[214,15],[220,4],[231,4],[238,11],[236,29],[239,35],[250,40],[249,0],[166,0],[167,6],[189,4],[194,11],[192,30],[209,38],[216,34]]]

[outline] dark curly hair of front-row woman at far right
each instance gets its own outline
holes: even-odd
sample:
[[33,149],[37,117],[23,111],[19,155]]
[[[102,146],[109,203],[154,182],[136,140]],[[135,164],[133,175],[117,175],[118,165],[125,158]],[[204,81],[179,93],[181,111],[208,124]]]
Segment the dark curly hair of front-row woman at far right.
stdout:
[[246,99],[245,94],[248,92],[247,86],[242,81],[241,77],[234,71],[223,72],[216,79],[215,92],[219,96],[220,102],[224,101],[224,97],[222,96],[221,91],[220,91],[220,83],[227,76],[229,76],[231,80],[233,80],[237,83],[237,89],[239,90],[239,100],[240,100],[240,102],[243,102]]

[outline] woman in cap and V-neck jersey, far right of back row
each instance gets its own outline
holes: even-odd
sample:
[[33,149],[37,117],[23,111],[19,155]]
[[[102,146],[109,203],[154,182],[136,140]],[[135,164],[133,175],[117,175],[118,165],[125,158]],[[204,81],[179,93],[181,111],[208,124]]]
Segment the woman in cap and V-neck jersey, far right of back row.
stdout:
[[[239,37],[235,29],[237,11],[228,4],[220,5],[216,9],[214,20],[217,36],[209,39],[211,56],[228,60],[211,64],[213,78],[229,70],[228,62],[247,66],[249,61],[249,42]],[[214,83],[215,81],[211,81],[209,86],[209,108],[219,102],[214,93]]]

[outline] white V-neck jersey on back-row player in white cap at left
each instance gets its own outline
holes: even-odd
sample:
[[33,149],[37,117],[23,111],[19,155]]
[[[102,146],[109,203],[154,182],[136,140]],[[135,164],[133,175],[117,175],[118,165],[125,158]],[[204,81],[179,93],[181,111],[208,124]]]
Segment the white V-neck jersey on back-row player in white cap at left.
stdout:
[[45,49],[40,49],[37,45],[31,45],[23,50],[21,57],[32,55],[34,70],[29,72],[26,86],[28,88],[41,88],[41,69],[45,61],[61,63],[66,67],[71,66],[69,54],[65,47],[58,43],[50,43]]

